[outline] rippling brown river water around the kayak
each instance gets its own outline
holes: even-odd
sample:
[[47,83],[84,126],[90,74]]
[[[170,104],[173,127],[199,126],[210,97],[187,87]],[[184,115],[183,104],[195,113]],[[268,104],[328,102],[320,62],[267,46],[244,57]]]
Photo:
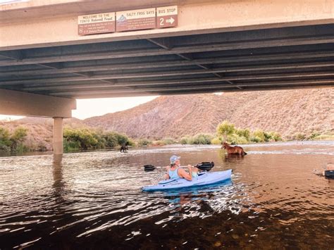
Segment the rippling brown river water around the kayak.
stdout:
[[[333,249],[334,142],[164,146],[0,158],[0,249]],[[165,170],[214,161],[232,181],[187,192],[141,192]]]

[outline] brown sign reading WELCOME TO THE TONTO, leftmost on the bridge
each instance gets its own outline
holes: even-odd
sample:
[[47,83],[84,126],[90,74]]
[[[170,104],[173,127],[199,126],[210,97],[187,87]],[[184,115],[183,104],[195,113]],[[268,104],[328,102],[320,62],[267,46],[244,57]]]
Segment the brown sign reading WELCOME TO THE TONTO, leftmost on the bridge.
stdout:
[[93,35],[115,32],[115,12],[78,16],[78,34]]

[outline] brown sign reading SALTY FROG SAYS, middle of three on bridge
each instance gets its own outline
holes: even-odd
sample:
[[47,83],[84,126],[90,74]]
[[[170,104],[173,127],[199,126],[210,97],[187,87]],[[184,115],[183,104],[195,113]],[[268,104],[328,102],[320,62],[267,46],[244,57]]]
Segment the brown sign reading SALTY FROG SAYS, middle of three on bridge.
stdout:
[[116,12],[116,31],[147,30],[156,27],[156,8]]

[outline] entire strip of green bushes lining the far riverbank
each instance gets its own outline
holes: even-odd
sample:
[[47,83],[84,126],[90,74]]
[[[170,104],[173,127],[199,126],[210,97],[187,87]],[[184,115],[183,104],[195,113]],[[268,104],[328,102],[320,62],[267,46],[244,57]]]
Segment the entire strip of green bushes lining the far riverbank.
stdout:
[[[40,127],[32,130],[32,127],[18,125],[17,127],[5,127],[0,125],[0,152],[21,153],[27,151],[51,151],[52,134],[46,134]],[[197,134],[184,136],[178,139],[131,139],[127,135],[118,132],[95,130],[91,127],[65,127],[63,131],[64,151],[111,149],[129,143],[130,146],[164,146],[169,144],[248,144],[257,142],[279,141],[304,141],[304,140],[334,140],[333,131],[324,134],[311,132],[307,135],[297,133],[290,137],[282,138],[278,132],[266,132],[237,128],[233,123],[223,121],[216,127],[216,135]]]

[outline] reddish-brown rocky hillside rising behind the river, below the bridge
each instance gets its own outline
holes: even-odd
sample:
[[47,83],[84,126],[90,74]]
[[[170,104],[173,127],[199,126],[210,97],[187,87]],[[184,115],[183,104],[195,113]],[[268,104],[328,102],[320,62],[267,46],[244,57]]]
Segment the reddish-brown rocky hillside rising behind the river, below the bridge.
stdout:
[[223,120],[237,127],[295,133],[334,130],[334,89],[161,96],[128,111],[88,118],[84,123],[130,137],[179,138],[214,133]]

